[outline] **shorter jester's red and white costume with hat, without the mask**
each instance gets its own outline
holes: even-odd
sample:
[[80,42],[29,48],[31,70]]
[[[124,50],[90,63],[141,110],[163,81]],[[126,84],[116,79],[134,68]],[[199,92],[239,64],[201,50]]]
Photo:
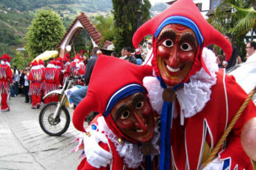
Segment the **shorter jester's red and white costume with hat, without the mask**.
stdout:
[[[104,67],[105,63],[109,63],[109,65]],[[127,69],[124,70],[124,67]],[[105,72],[102,72],[102,70],[105,70]],[[113,76],[114,72],[119,72],[120,74]],[[144,169],[141,147],[136,141],[122,134],[113,121],[111,114],[109,114],[109,111],[118,100],[127,97],[127,95],[129,96],[136,92],[147,93],[145,87],[142,85],[143,77],[150,76],[151,74],[152,67],[148,65],[146,67],[140,67],[111,56],[100,55],[98,61],[95,63],[86,97],[77,105],[74,111],[73,124],[78,130],[85,131],[83,122],[86,116],[93,110],[100,113],[86,129],[86,132],[92,135],[95,134],[99,145],[103,149],[111,151],[113,159],[110,164],[107,164],[107,167],[101,167],[99,169],[132,170],[139,169],[139,167],[140,169]],[[126,78],[122,78],[122,75],[126,75]],[[116,82],[114,85],[113,81]],[[107,91],[102,89],[102,84],[108,87]],[[103,91],[104,93],[102,93]],[[116,96],[120,97],[116,98]],[[151,140],[152,145],[156,149],[156,153],[152,153],[153,157],[158,154],[157,142],[159,136],[159,133],[155,132],[154,138]],[[89,138],[83,133],[80,136],[80,144],[76,150],[90,148],[90,142],[94,141],[90,141]],[[118,142],[118,138],[123,138],[123,142]],[[89,157],[83,157],[84,159],[77,169],[98,169],[92,167],[87,162],[87,159],[90,159]],[[97,158],[94,161],[97,162]],[[149,164],[150,167],[156,167],[151,160],[149,160]]]

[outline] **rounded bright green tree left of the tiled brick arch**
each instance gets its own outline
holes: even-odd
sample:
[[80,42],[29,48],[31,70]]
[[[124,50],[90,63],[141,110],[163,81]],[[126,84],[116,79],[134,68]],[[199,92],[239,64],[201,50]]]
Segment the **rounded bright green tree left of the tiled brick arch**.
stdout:
[[53,10],[38,10],[26,34],[28,56],[35,58],[46,50],[54,50],[64,34],[62,21]]

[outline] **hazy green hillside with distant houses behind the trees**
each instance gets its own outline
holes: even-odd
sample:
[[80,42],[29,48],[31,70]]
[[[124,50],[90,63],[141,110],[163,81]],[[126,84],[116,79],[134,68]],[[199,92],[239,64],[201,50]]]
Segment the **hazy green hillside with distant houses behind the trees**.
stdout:
[[[0,56],[15,55],[15,49],[26,44],[27,28],[35,17],[36,10],[51,8],[62,17],[69,28],[81,11],[102,14],[112,10],[111,0],[0,0]],[[152,16],[167,8],[165,3],[156,3],[151,8]],[[103,14],[104,14],[103,13]]]

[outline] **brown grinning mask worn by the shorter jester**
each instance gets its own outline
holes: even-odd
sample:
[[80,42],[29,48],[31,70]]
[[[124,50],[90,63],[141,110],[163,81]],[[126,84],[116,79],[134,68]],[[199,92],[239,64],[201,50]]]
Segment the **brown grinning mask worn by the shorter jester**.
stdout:
[[110,112],[122,134],[138,142],[154,136],[154,111],[145,94],[135,93],[120,100]]

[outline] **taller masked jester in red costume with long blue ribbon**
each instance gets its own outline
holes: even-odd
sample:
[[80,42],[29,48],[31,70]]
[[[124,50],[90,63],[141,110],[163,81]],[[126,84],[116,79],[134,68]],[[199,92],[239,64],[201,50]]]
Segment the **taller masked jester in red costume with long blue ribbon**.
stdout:
[[[156,87],[158,99],[163,95],[159,169],[201,169],[248,96],[233,76],[218,70],[214,54],[204,48],[218,45],[228,61],[232,47],[192,0],[176,1],[138,28],[134,47],[148,34],[153,35],[152,66],[161,83]],[[251,100],[221,151],[204,169],[253,169],[240,137],[255,116]]]

